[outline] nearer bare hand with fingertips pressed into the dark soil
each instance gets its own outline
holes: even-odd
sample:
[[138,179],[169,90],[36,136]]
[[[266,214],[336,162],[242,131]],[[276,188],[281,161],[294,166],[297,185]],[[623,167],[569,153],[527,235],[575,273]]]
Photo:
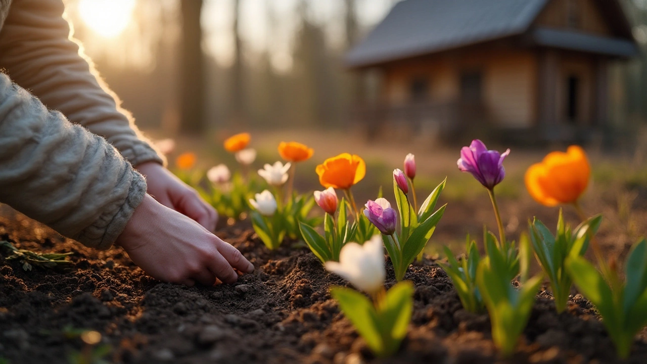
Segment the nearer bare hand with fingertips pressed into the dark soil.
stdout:
[[232,245],[199,223],[168,209],[146,194],[117,238],[131,260],[148,275],[164,282],[212,286],[238,279],[254,266]]

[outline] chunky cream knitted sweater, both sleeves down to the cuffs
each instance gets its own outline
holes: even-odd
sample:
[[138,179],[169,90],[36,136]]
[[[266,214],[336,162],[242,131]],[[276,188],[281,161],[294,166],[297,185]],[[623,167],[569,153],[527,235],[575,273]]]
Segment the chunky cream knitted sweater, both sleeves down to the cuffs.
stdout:
[[146,194],[133,166],[164,161],[69,38],[63,10],[0,0],[0,203],[107,249]]

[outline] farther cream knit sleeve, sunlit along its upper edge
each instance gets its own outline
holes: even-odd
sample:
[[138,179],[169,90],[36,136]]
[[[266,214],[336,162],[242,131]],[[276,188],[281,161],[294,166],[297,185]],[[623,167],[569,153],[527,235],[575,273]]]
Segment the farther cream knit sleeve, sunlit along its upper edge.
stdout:
[[0,69],[47,108],[104,137],[131,165],[164,163],[71,40],[63,10],[61,0],[14,0],[0,30]]

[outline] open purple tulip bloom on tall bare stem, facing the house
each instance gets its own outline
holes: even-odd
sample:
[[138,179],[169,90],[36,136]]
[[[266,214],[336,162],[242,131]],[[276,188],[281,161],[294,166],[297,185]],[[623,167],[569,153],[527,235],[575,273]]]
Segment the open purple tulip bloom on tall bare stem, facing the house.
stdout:
[[470,172],[481,185],[491,190],[505,177],[503,159],[508,154],[510,154],[510,149],[500,154],[496,150],[487,150],[482,141],[474,139],[470,146],[461,148],[461,158],[457,163],[458,169],[462,172]]

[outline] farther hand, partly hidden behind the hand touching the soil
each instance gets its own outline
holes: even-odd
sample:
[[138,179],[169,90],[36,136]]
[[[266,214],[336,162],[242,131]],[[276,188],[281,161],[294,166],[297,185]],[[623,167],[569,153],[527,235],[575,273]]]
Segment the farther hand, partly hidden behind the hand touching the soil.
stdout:
[[159,163],[146,162],[135,168],[146,177],[147,192],[159,203],[192,218],[208,231],[215,230],[218,213],[193,188]]

